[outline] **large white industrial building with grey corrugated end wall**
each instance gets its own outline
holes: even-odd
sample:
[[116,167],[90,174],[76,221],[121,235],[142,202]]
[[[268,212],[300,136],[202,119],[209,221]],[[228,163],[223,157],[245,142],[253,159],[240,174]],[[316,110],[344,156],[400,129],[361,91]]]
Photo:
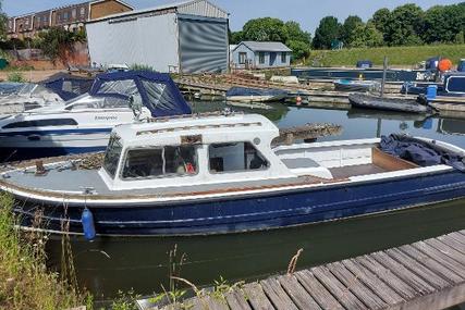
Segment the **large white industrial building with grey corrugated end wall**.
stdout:
[[95,20],[86,24],[90,62],[227,72],[228,17],[209,1],[191,0]]

